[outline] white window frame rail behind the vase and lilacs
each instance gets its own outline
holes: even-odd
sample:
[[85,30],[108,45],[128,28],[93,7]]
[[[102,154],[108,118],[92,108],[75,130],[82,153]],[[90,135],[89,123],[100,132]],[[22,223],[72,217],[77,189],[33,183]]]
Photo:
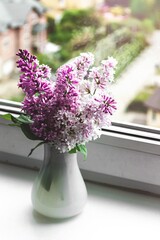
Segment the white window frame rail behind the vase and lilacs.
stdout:
[[[0,113],[20,113],[21,103],[0,99]],[[21,130],[0,119],[0,162],[38,170],[43,146],[29,151],[38,141],[27,139]],[[85,180],[160,194],[160,130],[113,122],[102,129],[99,139],[87,144],[87,161],[78,154]]]

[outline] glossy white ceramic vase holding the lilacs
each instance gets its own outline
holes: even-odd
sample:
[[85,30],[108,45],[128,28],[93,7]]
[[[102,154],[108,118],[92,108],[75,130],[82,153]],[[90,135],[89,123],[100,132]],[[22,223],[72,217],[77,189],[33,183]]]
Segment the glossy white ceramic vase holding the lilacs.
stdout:
[[60,153],[44,144],[44,161],[32,188],[33,208],[52,218],[79,214],[87,200],[77,154]]

